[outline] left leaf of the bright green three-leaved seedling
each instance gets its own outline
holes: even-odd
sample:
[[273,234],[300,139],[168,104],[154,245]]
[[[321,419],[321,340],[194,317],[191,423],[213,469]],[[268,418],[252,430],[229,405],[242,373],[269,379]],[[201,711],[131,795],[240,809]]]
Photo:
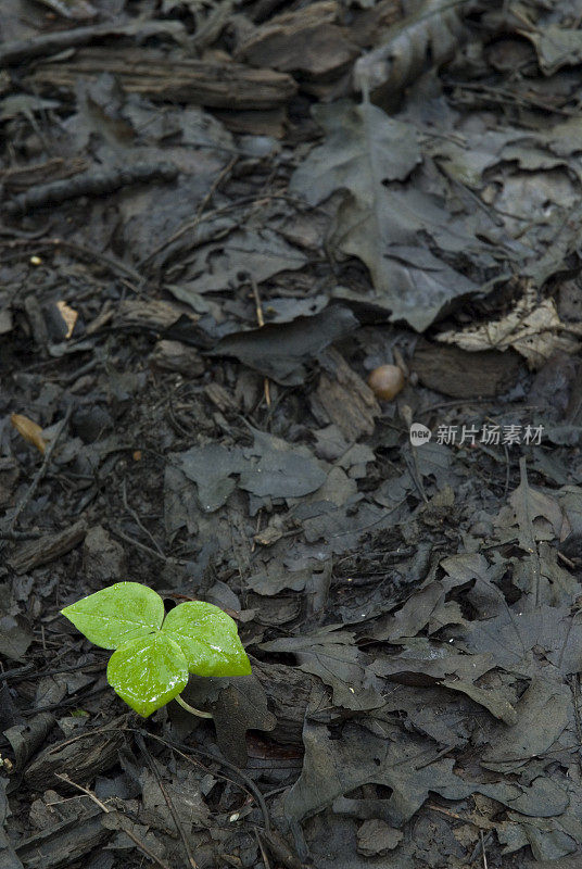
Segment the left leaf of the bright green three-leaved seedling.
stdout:
[[164,602],[139,582],[117,582],[61,613],[96,645],[117,648],[128,640],[159,630]]

